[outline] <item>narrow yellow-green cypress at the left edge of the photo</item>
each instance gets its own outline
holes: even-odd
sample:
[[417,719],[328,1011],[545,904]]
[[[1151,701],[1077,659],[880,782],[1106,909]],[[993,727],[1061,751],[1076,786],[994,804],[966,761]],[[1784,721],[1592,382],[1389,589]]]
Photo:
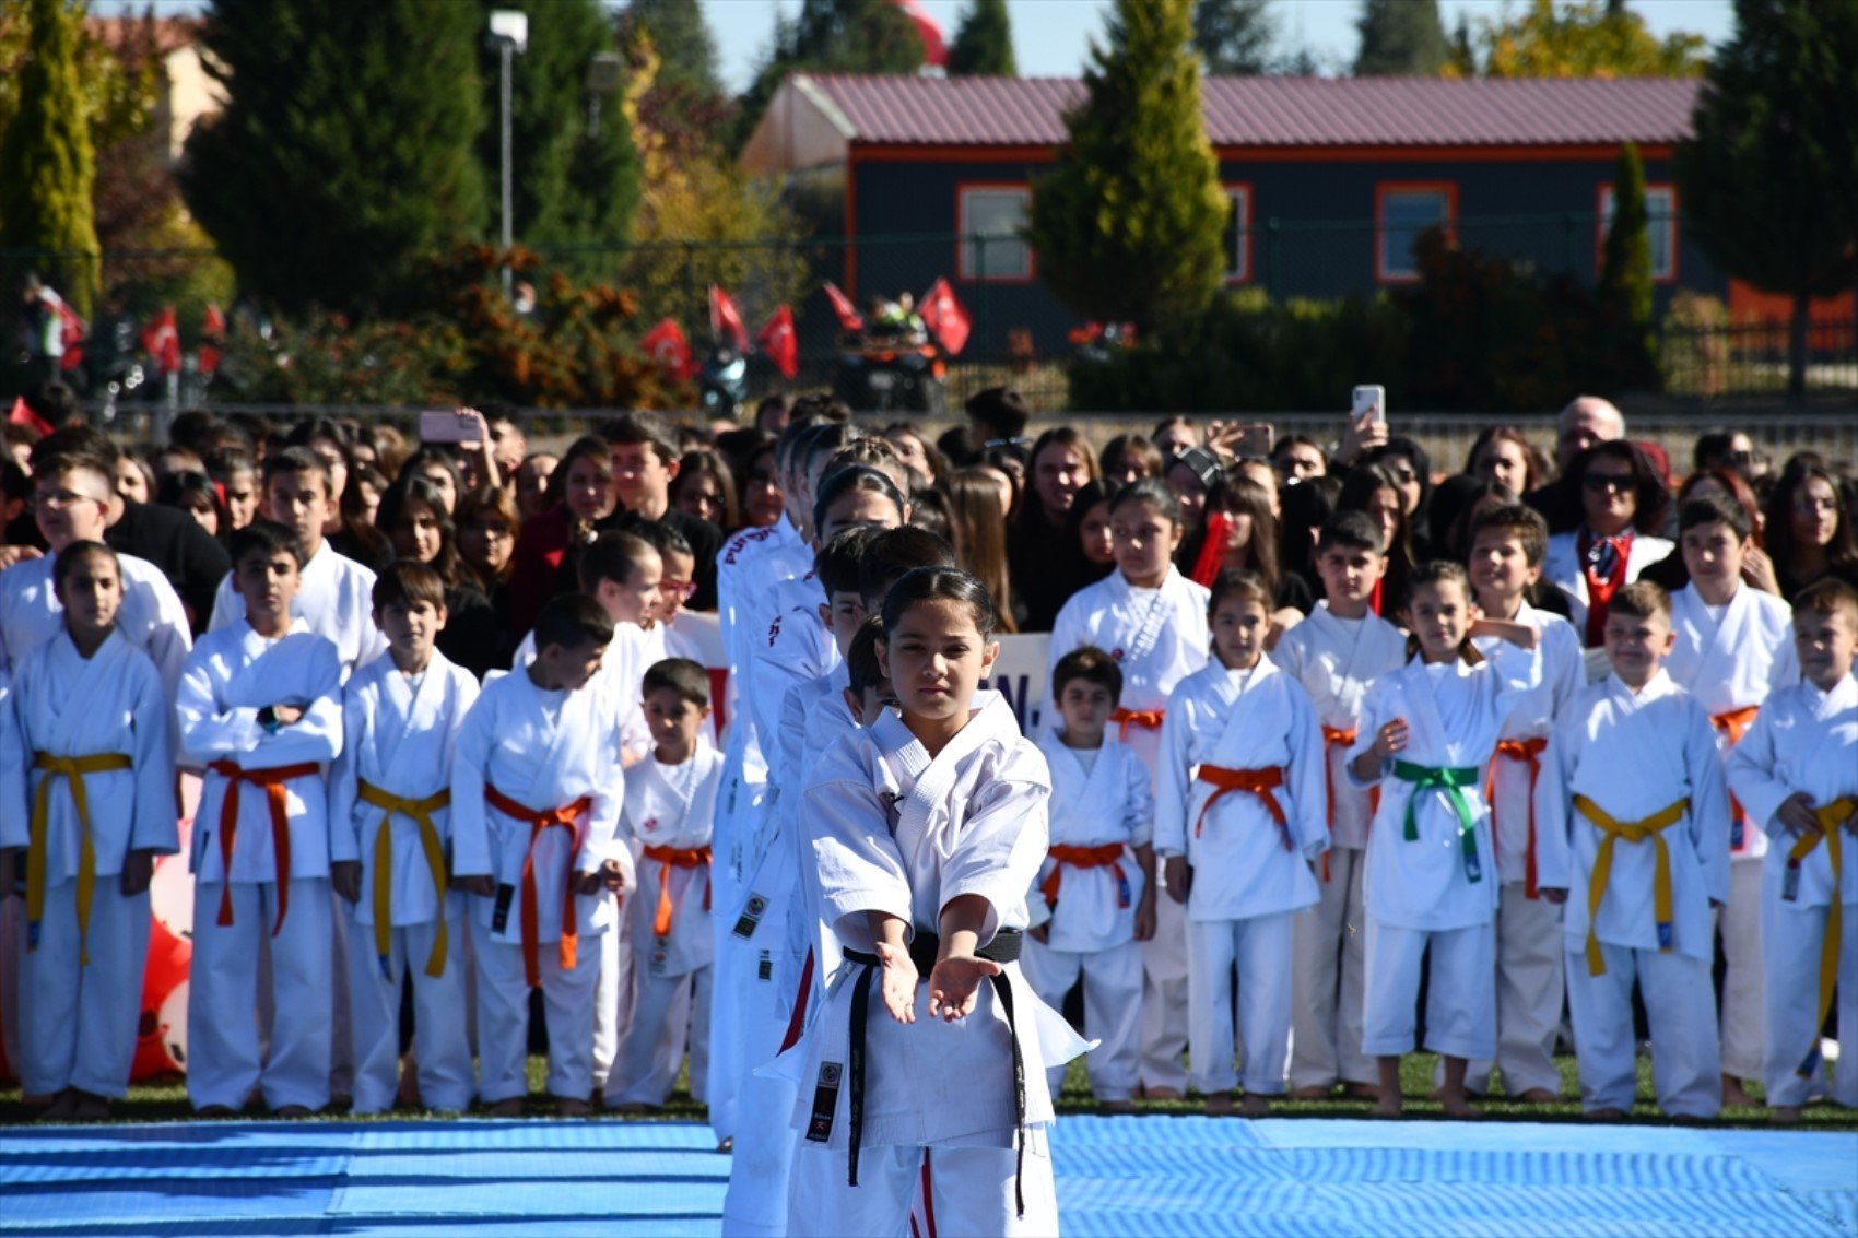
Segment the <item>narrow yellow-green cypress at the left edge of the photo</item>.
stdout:
[[65,0],[30,0],[26,20],[19,112],[0,141],[0,245],[61,255],[37,260],[39,268],[71,309],[89,318],[98,279],[91,214],[97,160],[78,74],[82,19]]

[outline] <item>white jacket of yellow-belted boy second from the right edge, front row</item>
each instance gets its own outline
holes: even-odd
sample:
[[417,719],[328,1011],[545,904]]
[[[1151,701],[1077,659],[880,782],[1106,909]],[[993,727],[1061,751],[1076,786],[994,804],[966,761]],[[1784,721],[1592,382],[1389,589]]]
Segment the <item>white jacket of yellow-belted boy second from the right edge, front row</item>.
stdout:
[[[1715,731],[1696,699],[1663,669],[1637,695],[1607,675],[1574,697],[1546,755],[1537,820],[1570,844],[1563,920],[1568,948],[1579,952],[1587,941],[1587,883],[1602,840],[1602,831],[1574,807],[1574,796],[1587,796],[1618,822],[1644,820],[1689,797],[1685,814],[1661,835],[1670,853],[1670,946],[1709,961],[1715,952],[1709,902],[1726,903],[1730,896],[1730,805]],[[1613,844],[1600,941],[1629,950],[1659,948],[1655,864],[1657,848],[1650,840]],[[1544,877],[1544,885],[1559,883]]]

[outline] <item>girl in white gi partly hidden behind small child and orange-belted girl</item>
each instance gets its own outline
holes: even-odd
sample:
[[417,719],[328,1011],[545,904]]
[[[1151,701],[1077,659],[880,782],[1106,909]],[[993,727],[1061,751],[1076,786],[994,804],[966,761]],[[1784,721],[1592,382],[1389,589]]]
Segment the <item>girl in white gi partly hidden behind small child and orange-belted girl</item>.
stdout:
[[[1111,714],[1156,784],[1161,721],[1174,684],[1206,665],[1206,589],[1174,569],[1180,498],[1158,478],[1117,491],[1109,507],[1117,571],[1072,595],[1052,625],[1052,664],[1094,645],[1122,667],[1122,705]],[[1178,1099],[1187,1087],[1187,924],[1180,903],[1156,902],[1156,935],[1143,942],[1143,1093]]]

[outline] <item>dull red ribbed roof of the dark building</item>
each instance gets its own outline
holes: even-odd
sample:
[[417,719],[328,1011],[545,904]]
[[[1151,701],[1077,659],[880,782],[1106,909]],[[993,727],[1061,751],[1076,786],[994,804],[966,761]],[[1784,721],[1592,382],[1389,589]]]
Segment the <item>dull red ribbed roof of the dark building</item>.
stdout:
[[[805,86],[840,113],[844,138],[879,145],[1059,145],[1065,110],[1083,99],[1078,78],[808,74]],[[1208,78],[1204,106],[1215,147],[1672,143],[1691,132],[1698,86],[1689,78]]]

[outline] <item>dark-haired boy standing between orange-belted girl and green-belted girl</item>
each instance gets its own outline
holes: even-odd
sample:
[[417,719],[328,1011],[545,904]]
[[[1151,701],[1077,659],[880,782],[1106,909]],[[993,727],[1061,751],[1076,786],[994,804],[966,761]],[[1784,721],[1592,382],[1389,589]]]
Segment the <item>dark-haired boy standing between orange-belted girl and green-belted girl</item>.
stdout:
[[1362,877],[1367,823],[1377,796],[1354,786],[1343,766],[1354,744],[1362,697],[1379,677],[1407,664],[1407,638],[1373,613],[1386,574],[1379,526],[1362,511],[1338,511],[1317,533],[1315,573],[1325,599],[1271,651],[1315,705],[1327,758],[1330,849],[1317,872],[1321,900],[1291,924],[1291,1097],[1319,1099],[1336,1082],[1375,1095],[1375,1060],[1362,1052],[1366,1002]]

